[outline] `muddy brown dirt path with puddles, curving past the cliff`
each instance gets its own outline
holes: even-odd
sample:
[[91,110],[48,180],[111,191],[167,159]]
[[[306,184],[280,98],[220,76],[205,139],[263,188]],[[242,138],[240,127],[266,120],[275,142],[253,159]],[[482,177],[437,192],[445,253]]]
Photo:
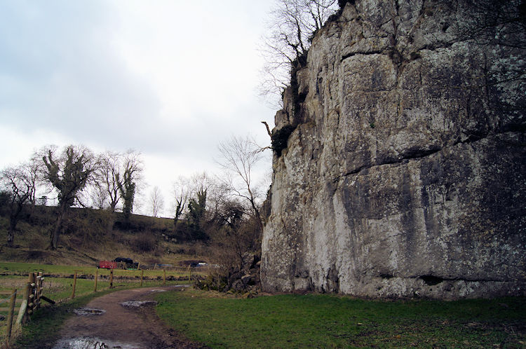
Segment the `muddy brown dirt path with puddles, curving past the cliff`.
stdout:
[[69,318],[60,329],[62,339],[53,348],[204,348],[166,327],[156,316],[154,303],[122,305],[128,301],[151,300],[156,292],[180,292],[181,289],[128,289],[93,299],[85,308],[104,310],[104,313]]

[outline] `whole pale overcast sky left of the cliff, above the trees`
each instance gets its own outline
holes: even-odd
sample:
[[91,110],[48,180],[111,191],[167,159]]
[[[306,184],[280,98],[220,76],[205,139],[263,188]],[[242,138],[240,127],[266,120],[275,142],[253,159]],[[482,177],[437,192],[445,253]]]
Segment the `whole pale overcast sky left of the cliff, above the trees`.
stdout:
[[135,149],[170,207],[177,177],[218,172],[220,141],[269,144],[257,47],[273,3],[0,0],[0,169],[46,144]]

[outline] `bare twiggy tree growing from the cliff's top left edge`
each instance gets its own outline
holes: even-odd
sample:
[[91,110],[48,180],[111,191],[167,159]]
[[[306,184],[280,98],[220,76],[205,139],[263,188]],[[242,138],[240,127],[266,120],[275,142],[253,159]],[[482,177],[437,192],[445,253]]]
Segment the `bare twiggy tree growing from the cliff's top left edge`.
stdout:
[[337,0],[277,1],[261,48],[265,60],[261,95],[281,96],[290,84],[290,72],[306,63],[313,34],[338,8]]

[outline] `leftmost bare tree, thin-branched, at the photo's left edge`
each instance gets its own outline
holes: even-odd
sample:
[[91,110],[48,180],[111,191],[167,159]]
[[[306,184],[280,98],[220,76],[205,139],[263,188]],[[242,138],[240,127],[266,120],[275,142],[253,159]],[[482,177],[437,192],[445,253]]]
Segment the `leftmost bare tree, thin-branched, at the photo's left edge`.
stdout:
[[9,200],[9,228],[7,233],[7,245],[13,247],[15,231],[22,208],[26,202],[32,202],[35,196],[36,175],[32,172],[32,164],[23,164],[8,167],[1,172],[0,180],[10,194]]

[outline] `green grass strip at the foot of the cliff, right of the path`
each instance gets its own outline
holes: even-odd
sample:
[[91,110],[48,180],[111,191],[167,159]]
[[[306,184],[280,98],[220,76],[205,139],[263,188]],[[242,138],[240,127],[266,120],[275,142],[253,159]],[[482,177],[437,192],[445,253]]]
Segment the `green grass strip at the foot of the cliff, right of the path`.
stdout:
[[159,316],[215,348],[523,348],[526,299],[365,301],[331,295],[217,298],[210,292],[156,296]]

